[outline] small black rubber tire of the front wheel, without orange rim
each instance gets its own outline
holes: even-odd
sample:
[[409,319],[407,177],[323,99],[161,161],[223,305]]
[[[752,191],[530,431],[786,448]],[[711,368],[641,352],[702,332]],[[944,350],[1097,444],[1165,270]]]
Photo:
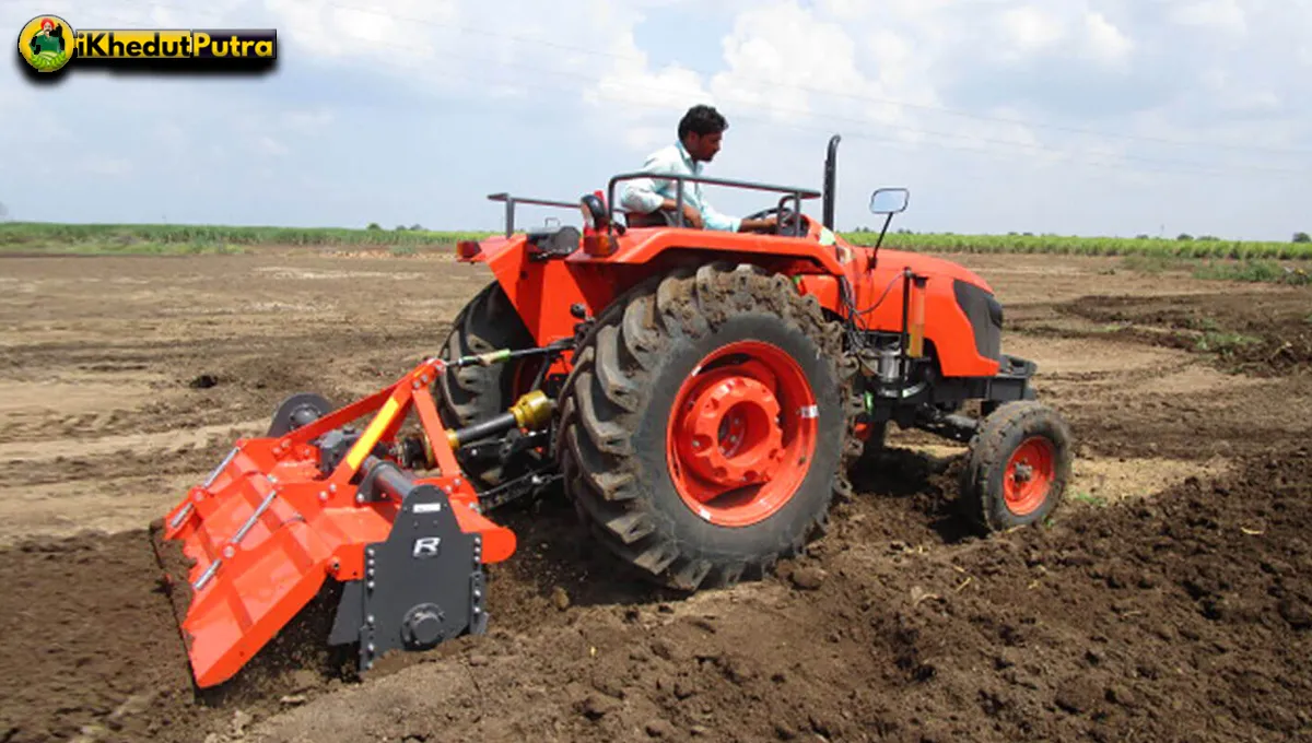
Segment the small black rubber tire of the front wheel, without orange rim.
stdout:
[[[1013,452],[1030,436],[1043,436],[1054,447],[1052,484],[1043,505],[1026,515],[1013,512],[1004,497],[1002,478]],[[1072,435],[1050,406],[1022,400],[1006,402],[984,418],[970,442],[960,476],[960,507],[981,533],[1043,522],[1065,495],[1071,480]]]

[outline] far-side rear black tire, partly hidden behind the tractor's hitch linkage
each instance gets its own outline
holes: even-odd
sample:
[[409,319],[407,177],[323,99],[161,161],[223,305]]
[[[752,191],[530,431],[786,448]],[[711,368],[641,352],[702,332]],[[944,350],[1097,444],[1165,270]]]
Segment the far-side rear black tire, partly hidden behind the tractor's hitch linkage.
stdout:
[[[442,345],[441,358],[485,354],[497,349],[529,349],[537,343],[533,334],[510,304],[501,284],[492,282],[461,309],[451,324],[451,333]],[[505,413],[514,404],[516,363],[471,366],[449,370],[437,380],[438,414],[442,425],[462,427]],[[497,464],[467,465],[466,477],[476,486],[492,487],[505,476]]]

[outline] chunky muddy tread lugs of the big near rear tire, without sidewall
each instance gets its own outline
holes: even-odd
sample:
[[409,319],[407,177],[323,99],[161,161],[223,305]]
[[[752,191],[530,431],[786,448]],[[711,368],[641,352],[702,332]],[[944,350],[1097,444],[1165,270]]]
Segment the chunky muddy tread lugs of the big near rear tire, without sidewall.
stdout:
[[[832,493],[820,512],[806,528],[779,537],[771,550],[748,563],[697,554],[663,529],[642,487],[648,480],[643,464],[628,455],[630,436],[646,414],[656,366],[669,345],[702,338],[729,317],[750,312],[777,314],[820,347],[840,384],[844,446]],[[565,383],[558,456],[562,472],[569,473],[567,485],[576,510],[604,546],[656,583],[695,591],[764,578],[778,560],[796,557],[812,536],[825,532],[834,497],[850,497],[846,473],[861,453],[853,434],[854,411],[862,405],[853,392],[854,373],[840,328],[825,321],[815,297],[800,296],[783,276],[752,265],[718,262],[649,282],[597,318],[597,329]]]

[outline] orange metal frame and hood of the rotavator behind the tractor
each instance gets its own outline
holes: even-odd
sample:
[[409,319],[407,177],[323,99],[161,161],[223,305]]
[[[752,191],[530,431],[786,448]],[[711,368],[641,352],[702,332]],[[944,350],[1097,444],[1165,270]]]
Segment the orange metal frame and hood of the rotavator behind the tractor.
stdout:
[[[429,359],[390,387],[281,436],[239,439],[227,459],[164,519],[163,539],[180,540],[194,561],[186,582],[192,599],[181,621],[199,687],[219,684],[241,668],[320,590],[373,578],[366,548],[384,543],[398,522],[400,498],[361,494],[359,476],[383,461],[413,410],[437,477],[461,532],[475,535],[482,563],[500,562],[516,548],[514,532],[478,511],[478,493],[461,477],[429,384],[446,368]],[[320,470],[324,434],[371,417],[331,474]],[[159,546],[159,545],[157,545]],[[168,562],[161,558],[161,562]],[[476,607],[475,607],[476,608]]]

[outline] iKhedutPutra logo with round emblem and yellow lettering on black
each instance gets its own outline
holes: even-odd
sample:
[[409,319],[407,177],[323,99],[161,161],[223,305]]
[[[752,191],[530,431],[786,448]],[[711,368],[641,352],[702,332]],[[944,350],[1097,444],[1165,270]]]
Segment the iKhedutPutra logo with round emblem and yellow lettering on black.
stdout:
[[[273,29],[152,29],[75,31],[59,16],[37,16],[18,33],[18,55],[38,72],[56,72],[70,62],[117,63],[159,60],[164,69],[177,64],[215,63],[232,69],[261,68],[278,59],[278,31]],[[178,60],[178,62],[173,62]]]

